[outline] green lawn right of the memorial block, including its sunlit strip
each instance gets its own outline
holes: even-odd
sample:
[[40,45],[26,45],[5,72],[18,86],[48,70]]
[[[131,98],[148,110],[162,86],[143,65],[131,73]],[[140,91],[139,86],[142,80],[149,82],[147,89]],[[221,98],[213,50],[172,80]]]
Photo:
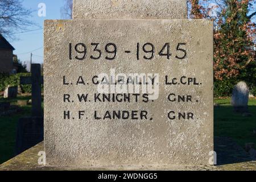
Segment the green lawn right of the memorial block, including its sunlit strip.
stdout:
[[214,103],[220,104],[214,107],[214,136],[233,138],[242,147],[245,143],[253,142],[256,144],[256,100],[249,100],[249,110],[251,117],[244,117],[241,114],[233,112],[230,105],[230,98],[214,100]]

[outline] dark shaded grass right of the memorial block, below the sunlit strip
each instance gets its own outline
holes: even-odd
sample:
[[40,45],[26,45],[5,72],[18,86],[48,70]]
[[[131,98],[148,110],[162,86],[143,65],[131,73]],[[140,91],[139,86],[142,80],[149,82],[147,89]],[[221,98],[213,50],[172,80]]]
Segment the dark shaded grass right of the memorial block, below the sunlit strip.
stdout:
[[256,106],[249,106],[251,117],[234,113],[232,106],[214,107],[214,151],[217,164],[249,162],[253,159],[245,151],[246,143],[256,144]]

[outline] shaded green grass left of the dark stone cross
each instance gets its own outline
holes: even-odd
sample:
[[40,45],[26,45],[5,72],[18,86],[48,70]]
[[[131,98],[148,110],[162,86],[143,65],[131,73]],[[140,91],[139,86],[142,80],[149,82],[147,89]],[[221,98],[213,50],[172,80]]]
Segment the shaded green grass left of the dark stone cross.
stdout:
[[[18,100],[30,100],[31,96],[6,99],[0,96],[0,102],[11,102],[16,104]],[[43,102],[42,102],[43,105]],[[0,117],[0,164],[14,157],[14,147],[16,140],[16,125],[18,119],[31,115],[31,105],[20,107],[20,111],[13,115],[6,115]]]

